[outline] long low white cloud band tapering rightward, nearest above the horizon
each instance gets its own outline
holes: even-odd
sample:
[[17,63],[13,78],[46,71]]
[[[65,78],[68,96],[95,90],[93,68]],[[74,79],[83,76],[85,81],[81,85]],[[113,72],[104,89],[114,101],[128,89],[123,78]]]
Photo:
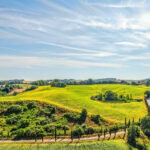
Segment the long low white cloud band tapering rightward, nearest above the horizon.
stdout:
[[70,67],[122,67],[121,64],[112,63],[99,63],[99,62],[87,62],[70,59],[52,59],[46,57],[28,57],[28,56],[8,56],[0,55],[0,67],[20,67],[20,68],[31,68],[31,67],[49,67],[49,66],[70,66]]

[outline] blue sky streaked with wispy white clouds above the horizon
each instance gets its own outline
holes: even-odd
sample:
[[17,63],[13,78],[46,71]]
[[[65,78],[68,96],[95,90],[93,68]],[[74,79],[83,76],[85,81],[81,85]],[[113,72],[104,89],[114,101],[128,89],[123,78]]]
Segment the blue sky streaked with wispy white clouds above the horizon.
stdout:
[[150,77],[149,0],[0,0],[0,80]]

